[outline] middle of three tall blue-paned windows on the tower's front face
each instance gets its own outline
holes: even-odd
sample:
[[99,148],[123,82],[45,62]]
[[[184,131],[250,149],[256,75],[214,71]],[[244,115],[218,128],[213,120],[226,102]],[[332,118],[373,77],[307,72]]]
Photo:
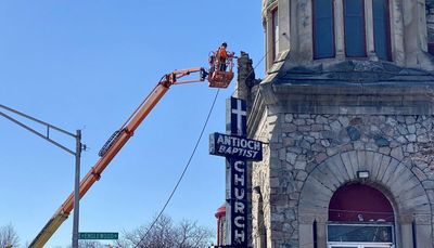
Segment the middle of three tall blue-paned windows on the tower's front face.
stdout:
[[344,1],[345,53],[347,57],[365,57],[365,1]]

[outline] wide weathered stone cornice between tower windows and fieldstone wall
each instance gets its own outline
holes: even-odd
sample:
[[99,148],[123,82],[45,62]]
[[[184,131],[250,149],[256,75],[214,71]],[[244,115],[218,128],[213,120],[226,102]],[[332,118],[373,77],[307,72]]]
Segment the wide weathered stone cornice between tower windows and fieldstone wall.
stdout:
[[379,62],[297,68],[277,63],[276,67],[252,97],[251,134],[266,109],[269,115],[434,115],[434,75],[429,71]]

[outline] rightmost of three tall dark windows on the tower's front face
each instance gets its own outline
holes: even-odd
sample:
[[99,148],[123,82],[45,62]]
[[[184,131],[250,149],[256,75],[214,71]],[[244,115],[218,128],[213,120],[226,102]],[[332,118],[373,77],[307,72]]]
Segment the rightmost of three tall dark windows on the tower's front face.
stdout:
[[375,53],[380,60],[391,61],[391,24],[388,0],[373,0],[373,37]]

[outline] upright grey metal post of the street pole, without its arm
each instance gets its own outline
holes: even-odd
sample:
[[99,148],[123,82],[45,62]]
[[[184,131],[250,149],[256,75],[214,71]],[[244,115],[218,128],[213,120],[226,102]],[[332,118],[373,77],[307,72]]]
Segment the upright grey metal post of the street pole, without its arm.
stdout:
[[80,211],[80,156],[81,156],[81,130],[77,130],[75,152],[75,185],[74,185],[74,220],[73,220],[73,248],[78,248],[78,225]]

